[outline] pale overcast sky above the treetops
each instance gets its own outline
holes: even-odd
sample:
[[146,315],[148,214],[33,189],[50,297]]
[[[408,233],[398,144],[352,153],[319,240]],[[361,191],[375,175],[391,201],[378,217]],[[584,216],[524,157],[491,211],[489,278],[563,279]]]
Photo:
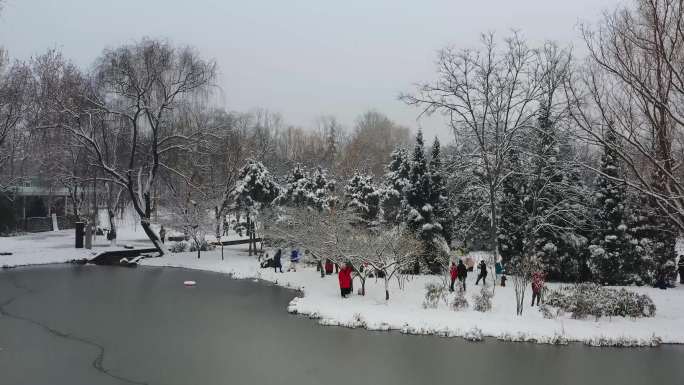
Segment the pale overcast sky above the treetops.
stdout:
[[397,100],[433,78],[436,51],[481,32],[580,45],[577,24],[619,0],[5,0],[0,45],[25,59],[59,48],[87,68],[104,47],[143,36],[191,44],[220,67],[225,106],[265,107],[313,126],[347,127],[367,109],[451,139],[440,119],[416,121]]

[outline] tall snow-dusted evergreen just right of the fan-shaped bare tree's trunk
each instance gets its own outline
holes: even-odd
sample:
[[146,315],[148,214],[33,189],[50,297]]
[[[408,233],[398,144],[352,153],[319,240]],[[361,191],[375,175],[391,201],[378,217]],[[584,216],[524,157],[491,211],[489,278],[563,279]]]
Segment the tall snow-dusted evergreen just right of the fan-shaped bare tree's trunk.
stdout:
[[[521,160],[518,147],[529,155]],[[553,280],[576,281],[586,240],[579,230],[585,209],[572,148],[563,146],[548,110],[525,143],[508,152],[502,183],[499,250],[504,262],[533,255]]]

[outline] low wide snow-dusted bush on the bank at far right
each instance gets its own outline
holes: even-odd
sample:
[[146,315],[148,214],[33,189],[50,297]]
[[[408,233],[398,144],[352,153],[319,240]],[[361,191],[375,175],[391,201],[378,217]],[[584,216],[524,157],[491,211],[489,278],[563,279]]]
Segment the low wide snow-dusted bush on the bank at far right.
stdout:
[[646,294],[627,289],[611,289],[595,283],[565,286],[548,290],[546,304],[570,312],[572,318],[583,319],[589,315],[599,319],[608,317],[653,317],[656,307]]

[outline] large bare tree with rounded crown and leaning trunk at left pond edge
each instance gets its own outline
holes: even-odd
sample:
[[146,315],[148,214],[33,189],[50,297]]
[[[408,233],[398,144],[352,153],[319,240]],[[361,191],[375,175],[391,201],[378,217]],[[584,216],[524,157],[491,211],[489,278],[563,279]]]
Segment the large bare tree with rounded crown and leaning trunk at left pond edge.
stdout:
[[[206,92],[215,73],[215,64],[201,59],[190,47],[144,39],[105,50],[91,87],[80,93],[85,108],[69,104],[68,98],[57,100],[61,112],[70,118],[62,127],[88,149],[111,182],[127,190],[141,227],[160,254],[164,247],[150,227],[155,181],[162,171],[187,179],[166,160],[186,150],[190,139],[201,134],[179,133],[172,124],[173,112]],[[100,121],[107,124],[95,125],[97,115],[106,117]],[[115,164],[104,154],[113,133],[127,137],[120,143],[125,158]]]

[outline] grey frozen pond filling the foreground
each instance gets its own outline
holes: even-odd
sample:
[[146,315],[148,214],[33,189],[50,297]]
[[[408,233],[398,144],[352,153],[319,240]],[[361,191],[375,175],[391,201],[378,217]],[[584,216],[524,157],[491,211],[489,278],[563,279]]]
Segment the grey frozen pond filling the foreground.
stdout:
[[[184,287],[183,281],[197,281]],[[548,346],[323,327],[294,293],[169,268],[0,271],[0,383],[676,384],[684,347]]]

